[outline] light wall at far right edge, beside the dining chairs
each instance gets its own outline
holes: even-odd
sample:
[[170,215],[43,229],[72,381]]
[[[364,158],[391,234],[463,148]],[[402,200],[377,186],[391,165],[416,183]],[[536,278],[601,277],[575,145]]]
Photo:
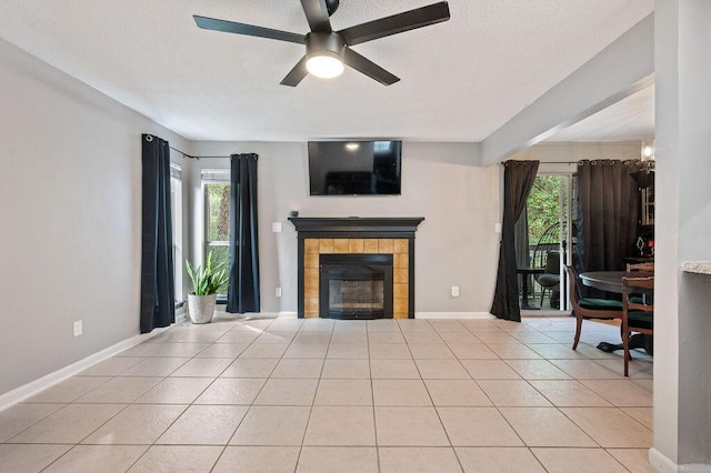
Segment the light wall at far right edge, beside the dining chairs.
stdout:
[[[711,3],[655,2],[657,288],[654,450],[684,471],[711,471]],[[663,455],[663,456],[662,456]],[[695,466],[691,466],[695,465]],[[704,466],[701,466],[704,465]]]

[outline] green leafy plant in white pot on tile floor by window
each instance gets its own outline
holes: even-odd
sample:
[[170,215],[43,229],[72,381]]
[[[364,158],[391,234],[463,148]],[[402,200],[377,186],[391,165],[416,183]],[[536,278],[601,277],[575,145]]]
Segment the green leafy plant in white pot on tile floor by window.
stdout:
[[224,263],[212,265],[212,252],[208,254],[204,269],[190,265],[186,260],[186,269],[192,281],[193,292],[188,294],[188,313],[192,323],[212,322],[218,289],[229,280]]

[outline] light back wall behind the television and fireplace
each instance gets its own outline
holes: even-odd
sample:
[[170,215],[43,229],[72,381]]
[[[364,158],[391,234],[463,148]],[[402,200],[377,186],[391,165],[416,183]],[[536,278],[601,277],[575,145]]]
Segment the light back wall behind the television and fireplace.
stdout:
[[[424,217],[415,233],[415,311],[488,312],[493,293],[499,235],[499,167],[472,165],[473,143],[403,143],[402,195],[310,197],[306,143],[197,142],[198,155],[259,154],[259,235],[263,312],[297,311],[299,217]],[[229,160],[193,162],[192,192],[200,168],[229,168]],[[202,204],[193,204],[193,255],[202,258]],[[272,233],[271,223],[283,232]],[[459,285],[461,295],[450,295]],[[274,289],[282,288],[282,298]]]

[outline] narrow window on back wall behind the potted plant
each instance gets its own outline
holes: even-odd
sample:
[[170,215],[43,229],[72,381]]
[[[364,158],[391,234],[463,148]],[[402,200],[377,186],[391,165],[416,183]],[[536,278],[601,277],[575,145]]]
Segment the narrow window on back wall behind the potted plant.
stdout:
[[[203,169],[201,172],[204,202],[204,259],[212,253],[213,264],[230,262],[230,170]],[[218,290],[227,294],[227,283]]]

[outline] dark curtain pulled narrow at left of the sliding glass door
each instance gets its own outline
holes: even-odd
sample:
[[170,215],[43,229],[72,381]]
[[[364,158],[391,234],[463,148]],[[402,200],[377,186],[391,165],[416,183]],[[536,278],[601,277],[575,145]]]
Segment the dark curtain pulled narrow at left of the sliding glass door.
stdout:
[[503,171],[503,221],[497,289],[491,313],[499,319],[521,321],[519,284],[515,272],[515,222],[525,208],[539,161],[507,161]]

